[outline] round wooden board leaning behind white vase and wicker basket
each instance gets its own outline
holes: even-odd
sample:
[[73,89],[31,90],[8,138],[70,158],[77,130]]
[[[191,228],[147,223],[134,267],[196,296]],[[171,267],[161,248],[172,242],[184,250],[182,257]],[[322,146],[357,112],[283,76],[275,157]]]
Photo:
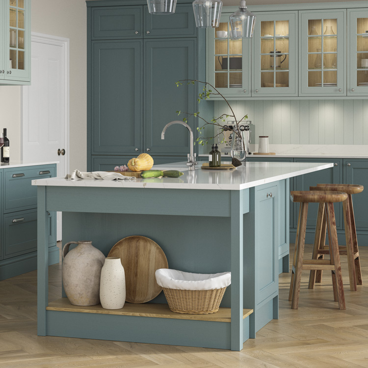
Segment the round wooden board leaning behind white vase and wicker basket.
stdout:
[[146,303],[162,290],[156,282],[158,268],[168,268],[165,253],[148,237],[134,235],[119,240],[107,257],[118,257],[125,271],[126,301]]

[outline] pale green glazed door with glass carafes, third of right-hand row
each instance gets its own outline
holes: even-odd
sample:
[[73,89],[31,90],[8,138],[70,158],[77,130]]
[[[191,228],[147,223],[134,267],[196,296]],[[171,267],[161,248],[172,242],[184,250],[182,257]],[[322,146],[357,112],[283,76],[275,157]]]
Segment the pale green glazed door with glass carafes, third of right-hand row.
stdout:
[[299,13],[300,95],[346,95],[346,10]]

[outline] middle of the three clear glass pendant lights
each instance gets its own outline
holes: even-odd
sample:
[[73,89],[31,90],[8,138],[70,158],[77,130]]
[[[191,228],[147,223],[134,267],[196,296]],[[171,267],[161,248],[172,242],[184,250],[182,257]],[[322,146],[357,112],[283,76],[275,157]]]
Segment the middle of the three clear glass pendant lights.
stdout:
[[197,27],[218,27],[221,8],[222,1],[220,0],[195,0],[193,2],[193,11]]

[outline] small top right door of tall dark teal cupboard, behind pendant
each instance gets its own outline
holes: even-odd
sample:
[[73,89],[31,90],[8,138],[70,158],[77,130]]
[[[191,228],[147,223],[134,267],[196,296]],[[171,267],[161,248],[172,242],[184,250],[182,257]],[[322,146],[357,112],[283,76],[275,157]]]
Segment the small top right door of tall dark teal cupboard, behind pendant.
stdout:
[[177,5],[175,13],[165,17],[150,14],[148,7],[145,6],[144,24],[144,38],[196,37],[197,35],[192,4]]

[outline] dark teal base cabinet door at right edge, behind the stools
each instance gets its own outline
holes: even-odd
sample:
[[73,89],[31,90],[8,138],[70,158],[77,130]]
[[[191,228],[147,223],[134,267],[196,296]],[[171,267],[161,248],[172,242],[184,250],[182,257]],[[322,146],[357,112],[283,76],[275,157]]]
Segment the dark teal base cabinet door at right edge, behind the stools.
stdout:
[[352,196],[355,225],[358,231],[358,243],[360,244],[359,238],[361,234],[359,234],[359,231],[368,230],[368,160],[344,158],[343,177],[344,184],[359,184],[365,187],[363,192]]

